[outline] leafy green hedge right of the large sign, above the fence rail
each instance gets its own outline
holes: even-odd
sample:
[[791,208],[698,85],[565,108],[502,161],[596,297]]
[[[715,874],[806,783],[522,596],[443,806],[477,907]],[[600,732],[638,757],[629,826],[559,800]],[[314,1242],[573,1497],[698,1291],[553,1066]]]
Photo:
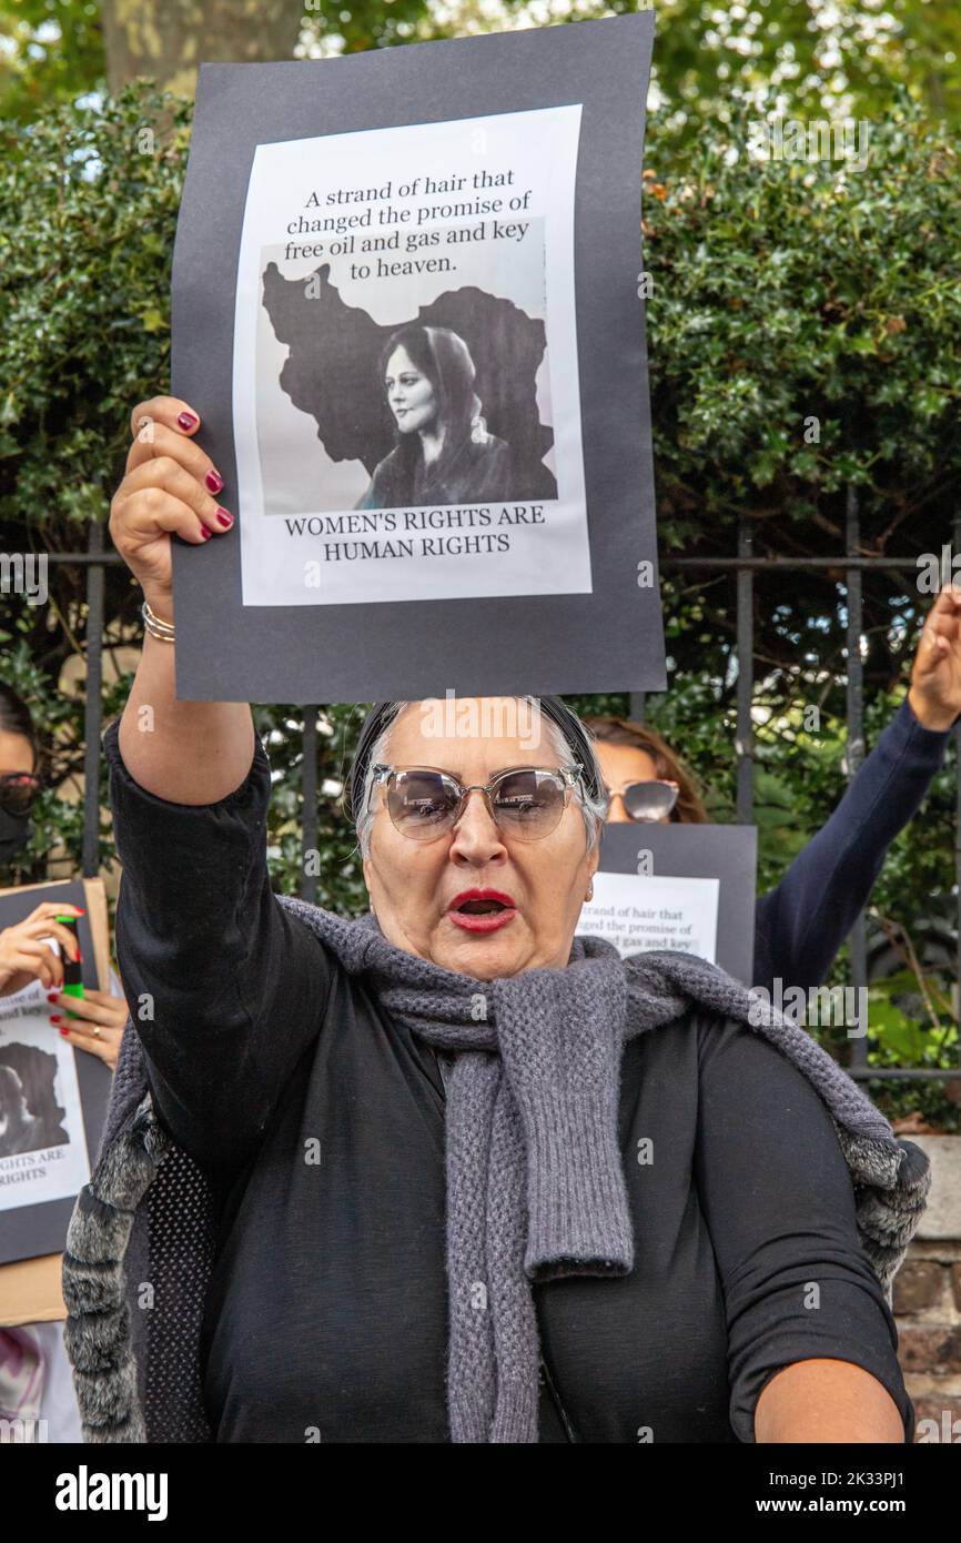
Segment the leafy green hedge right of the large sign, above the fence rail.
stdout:
[[850,485],[884,545],[907,522],[935,540],[961,471],[956,145],[901,96],[865,171],[751,160],[754,116],[691,151],[649,136],[666,546],[688,549],[696,522],[730,548],[745,515],[771,552],[836,552]]

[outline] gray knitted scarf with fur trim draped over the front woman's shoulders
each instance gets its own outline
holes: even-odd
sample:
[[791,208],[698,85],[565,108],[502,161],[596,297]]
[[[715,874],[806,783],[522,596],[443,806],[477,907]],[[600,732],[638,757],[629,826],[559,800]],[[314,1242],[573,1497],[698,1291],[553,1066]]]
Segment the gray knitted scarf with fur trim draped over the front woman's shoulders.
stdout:
[[[851,1173],[862,1247],[890,1304],[930,1187],[926,1154],[895,1139],[805,1029],[722,969],[676,952],[622,960],[608,941],[582,937],[565,969],[480,981],[395,947],[370,915],[344,921],[278,898],[349,975],[364,977],[389,1014],[457,1052],[446,1111],[452,1441],[538,1440],[531,1285],[632,1268],[617,1146],[622,1051],[691,1008],[750,1023],[816,1086]],[[196,1367],[211,1219],[204,1180],[184,1159],[157,1123],[140,1042],[130,1031],[63,1259],[65,1344],[86,1441],[211,1440]],[[170,1193],[150,1207],[165,1168]],[[139,1239],[133,1279],[125,1270],[131,1237]],[[148,1332],[140,1322],[151,1315],[133,1305],[145,1279],[162,1308]]]

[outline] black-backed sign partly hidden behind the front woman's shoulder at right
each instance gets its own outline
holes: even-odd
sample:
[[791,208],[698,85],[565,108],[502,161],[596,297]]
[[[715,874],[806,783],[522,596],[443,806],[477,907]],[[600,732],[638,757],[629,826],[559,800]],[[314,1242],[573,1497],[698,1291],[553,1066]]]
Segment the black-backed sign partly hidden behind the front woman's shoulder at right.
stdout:
[[[605,875],[617,881],[608,886]],[[711,895],[705,886],[699,893],[674,886],[674,880],[706,880],[716,890]],[[751,986],[756,883],[756,826],[609,824],[602,836],[595,898],[583,907],[577,930],[609,937],[622,952],[686,949],[697,935],[691,918],[703,915],[710,923],[716,917],[714,963]],[[625,947],[628,929],[637,941]]]

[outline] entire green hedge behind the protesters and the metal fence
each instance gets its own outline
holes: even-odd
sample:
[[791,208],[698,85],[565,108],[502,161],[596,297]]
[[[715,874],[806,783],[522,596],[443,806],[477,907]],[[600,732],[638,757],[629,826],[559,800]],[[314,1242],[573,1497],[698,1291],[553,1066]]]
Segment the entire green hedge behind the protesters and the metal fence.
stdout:
[[[123,472],[133,406],[168,390],[170,261],[188,128],[190,103],[159,96],[151,83],[102,110],[62,106],[29,125],[0,125],[6,551],[85,548]],[[645,194],[671,679],[668,693],[648,699],[648,716],[691,764],[716,819],[736,818],[734,580],[710,568],[671,568],[671,559],[731,555],[739,517],[759,554],[838,555],[845,489],[855,485],[862,549],[899,554],[905,565],[901,574],[867,574],[864,583],[870,744],[902,696],[929,603],[915,588],[915,559],[950,540],[961,469],[956,143],[930,130],[907,97],[875,125],[868,170],[847,177],[830,165],[754,162],[748,131],[747,111],[731,125],[703,127],[693,145],[666,117],[651,122],[656,176]],[[821,420],[821,443],[804,443],[808,415]],[[842,565],[793,571],[788,582],[784,574],[754,580],[762,890],[777,883],[845,787],[842,582]],[[83,704],[60,690],[60,679],[83,650],[85,572],[51,563],[48,583],[48,606],[6,602],[0,622],[3,674],[31,704],[51,778],[26,863],[8,881],[45,876],[59,839],[77,869],[82,850],[82,805],[54,788],[83,767]],[[114,648],[139,643],[140,597],[122,565],[106,569],[105,591],[106,721],[130,688]],[[575,705],[628,708],[623,694]],[[816,731],[804,727],[811,705],[821,713]],[[356,912],[364,889],[339,788],[362,713],[318,711],[316,898]],[[256,708],[275,773],[268,858],[282,892],[302,884],[301,722],[301,708]],[[100,775],[108,858],[103,765]],[[944,966],[956,915],[952,849],[953,768],[895,842],[873,896],[879,915],[915,937],[933,980],[952,978]],[[879,923],[875,944],[884,946]],[[876,958],[879,981],[902,967],[881,952]],[[844,958],[836,978],[844,978]],[[875,1004],[878,1065],[905,1048],[956,1054],[950,1034],[926,1026],[910,1000],[876,997]],[[916,1028],[910,1045],[905,1035],[915,1031],[905,1025]],[[942,1089],[899,1092],[882,1083],[872,1092],[892,1109],[953,1108]]]

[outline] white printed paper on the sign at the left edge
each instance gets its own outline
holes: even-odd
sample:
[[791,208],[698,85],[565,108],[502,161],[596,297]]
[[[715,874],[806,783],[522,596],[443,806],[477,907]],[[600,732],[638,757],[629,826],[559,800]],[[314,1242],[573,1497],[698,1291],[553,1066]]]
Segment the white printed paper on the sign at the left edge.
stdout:
[[0,997],[0,1211],[68,1199],[88,1179],[74,1051],[34,980]]

